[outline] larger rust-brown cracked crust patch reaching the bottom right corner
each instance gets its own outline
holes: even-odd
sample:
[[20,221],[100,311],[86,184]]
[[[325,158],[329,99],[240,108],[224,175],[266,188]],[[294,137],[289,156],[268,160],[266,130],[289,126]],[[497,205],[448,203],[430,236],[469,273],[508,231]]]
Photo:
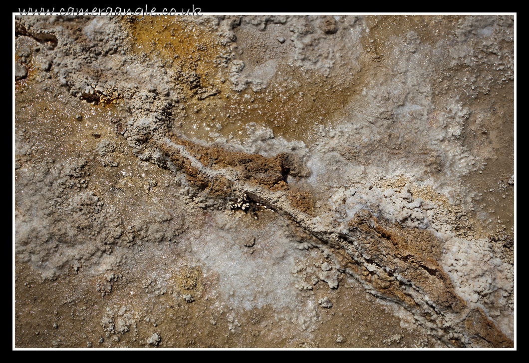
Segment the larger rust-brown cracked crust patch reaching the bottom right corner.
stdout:
[[[400,227],[389,228],[366,210],[355,214],[349,221],[348,228],[350,237],[356,237],[358,244],[355,247],[366,262],[384,270],[375,274],[366,267],[359,266],[350,254],[345,253],[347,246],[336,252],[341,256],[344,266],[374,287],[381,296],[400,301],[412,311],[417,305],[424,304],[422,301],[416,301],[417,297],[403,288],[406,284],[394,278],[397,274],[405,276],[408,283],[413,283],[412,291],[418,291],[421,297],[432,305],[436,314],[463,316],[460,331],[466,330],[468,339],[476,346],[514,347],[513,341],[507,338],[480,308],[469,309],[467,303],[454,292],[450,277],[439,262],[432,258],[437,255],[432,253],[432,250],[437,248],[425,246],[424,242],[430,242],[433,246],[440,244],[431,233],[419,233]],[[392,271],[393,274],[387,274],[386,270]],[[430,319],[431,315],[426,314],[426,317]],[[449,333],[453,328],[452,326],[442,329]],[[461,347],[468,345],[460,340],[452,340],[452,344]]]

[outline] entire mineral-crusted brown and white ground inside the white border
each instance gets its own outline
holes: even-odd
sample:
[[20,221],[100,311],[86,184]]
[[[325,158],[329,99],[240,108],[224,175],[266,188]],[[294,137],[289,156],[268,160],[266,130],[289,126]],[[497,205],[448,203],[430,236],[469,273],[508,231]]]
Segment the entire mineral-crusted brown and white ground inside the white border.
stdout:
[[514,17],[15,17],[15,347],[512,348]]

